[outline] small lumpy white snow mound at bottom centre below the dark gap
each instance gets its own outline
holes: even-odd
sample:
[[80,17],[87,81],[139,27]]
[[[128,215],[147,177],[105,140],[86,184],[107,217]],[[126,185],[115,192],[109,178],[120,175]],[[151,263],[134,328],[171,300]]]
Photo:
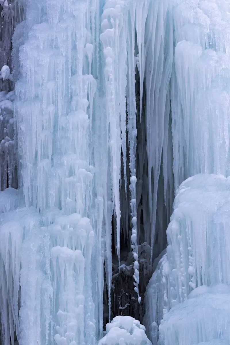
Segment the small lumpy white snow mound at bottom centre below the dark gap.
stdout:
[[106,325],[98,345],[151,345],[145,327],[131,316],[116,316]]

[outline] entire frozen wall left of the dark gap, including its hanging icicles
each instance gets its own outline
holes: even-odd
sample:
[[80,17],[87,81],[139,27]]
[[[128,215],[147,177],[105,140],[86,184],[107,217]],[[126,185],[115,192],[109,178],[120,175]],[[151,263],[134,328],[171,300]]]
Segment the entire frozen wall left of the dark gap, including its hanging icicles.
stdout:
[[[6,301],[1,309],[2,339],[4,344],[10,339],[13,343],[15,329],[23,345],[54,340],[93,344],[103,327],[104,261],[111,288],[113,213],[118,256],[120,250],[121,152],[130,202],[122,219],[128,219],[124,232],[132,220],[134,288],[140,302],[135,75],[138,68],[142,104],[144,56],[149,49],[153,55],[154,42],[141,28],[148,24],[149,14],[152,30],[159,12],[164,36],[168,3],[159,1],[157,7],[150,1],[107,1],[104,6],[93,0],[20,3],[26,20],[13,37],[17,80],[13,153],[23,197],[19,203],[11,200],[12,207],[2,216],[3,223],[4,217],[6,222],[14,219],[1,248],[1,257],[7,258],[2,259],[6,277],[1,290]],[[167,82],[169,75],[170,71]],[[27,217],[28,226],[23,224]],[[153,246],[154,220],[151,224],[147,236]],[[10,256],[9,262],[13,236],[17,257]]]

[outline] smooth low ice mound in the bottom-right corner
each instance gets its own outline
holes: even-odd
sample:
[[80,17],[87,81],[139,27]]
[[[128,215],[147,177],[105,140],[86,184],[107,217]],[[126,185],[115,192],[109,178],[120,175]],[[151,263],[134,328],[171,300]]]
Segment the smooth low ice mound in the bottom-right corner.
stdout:
[[164,314],[158,344],[229,344],[229,304],[228,285],[197,287],[186,301]]

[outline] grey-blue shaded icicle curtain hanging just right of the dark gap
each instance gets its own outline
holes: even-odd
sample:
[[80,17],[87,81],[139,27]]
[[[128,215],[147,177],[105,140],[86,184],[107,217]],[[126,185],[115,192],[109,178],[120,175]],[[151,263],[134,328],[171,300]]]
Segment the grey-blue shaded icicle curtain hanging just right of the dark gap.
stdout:
[[[159,186],[160,167],[163,155],[164,167],[164,194],[168,198],[168,127],[169,127],[169,94],[168,86],[172,69],[172,19],[169,16],[170,2],[156,1],[150,5],[150,11],[146,19],[146,37],[141,39],[143,23],[137,27],[137,39],[141,39],[140,61],[140,90],[142,90],[143,76],[146,80],[145,113],[147,126],[147,152],[148,152],[148,184],[149,184],[149,209],[151,226],[151,262],[153,258],[153,245],[156,239],[157,224],[157,192]],[[139,13],[143,9],[139,9]],[[143,43],[144,42],[144,43]],[[140,44],[139,44],[140,45]],[[146,65],[141,66],[146,63]],[[143,71],[141,69],[144,68]],[[142,97],[140,99],[142,102]],[[167,201],[166,201],[167,204]],[[160,207],[163,207],[161,205]],[[162,222],[161,219],[158,219]],[[161,233],[158,234],[161,241]],[[149,241],[147,241],[149,243]],[[164,244],[160,245],[162,250]]]

